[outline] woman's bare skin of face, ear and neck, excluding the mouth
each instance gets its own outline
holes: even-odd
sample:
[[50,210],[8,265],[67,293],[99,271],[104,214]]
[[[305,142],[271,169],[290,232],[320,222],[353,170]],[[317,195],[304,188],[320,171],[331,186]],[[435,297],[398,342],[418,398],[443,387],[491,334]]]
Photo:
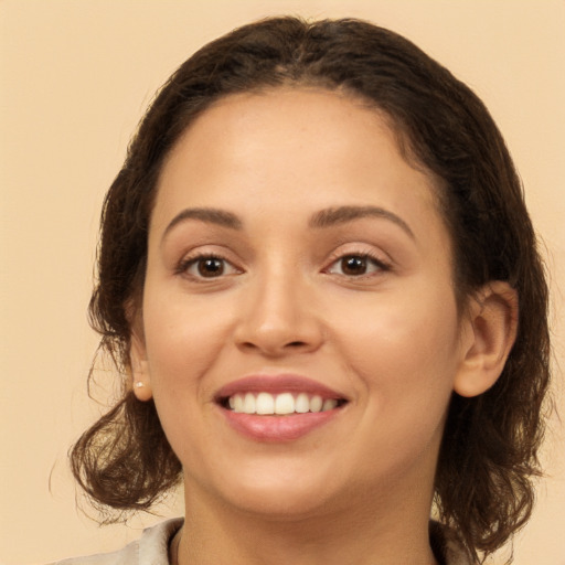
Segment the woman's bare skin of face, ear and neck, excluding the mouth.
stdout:
[[[341,206],[381,212],[312,225]],[[202,276],[199,256],[223,274]],[[366,273],[344,269],[352,256],[370,256]],[[515,317],[502,284],[460,313],[451,273],[433,182],[374,109],[278,89],[198,118],[161,171],[131,351],[136,394],[154,397],[183,465],[181,564],[435,563],[449,398],[495,381]],[[215,402],[257,373],[305,375],[348,403],[297,440],[257,441]]]

